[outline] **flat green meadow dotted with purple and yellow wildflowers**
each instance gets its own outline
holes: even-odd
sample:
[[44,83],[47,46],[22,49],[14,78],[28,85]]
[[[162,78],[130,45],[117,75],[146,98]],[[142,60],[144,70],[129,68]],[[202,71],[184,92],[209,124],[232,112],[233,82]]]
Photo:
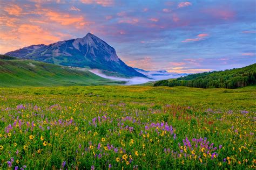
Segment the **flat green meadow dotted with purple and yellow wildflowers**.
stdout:
[[0,89],[0,169],[255,168],[256,87]]

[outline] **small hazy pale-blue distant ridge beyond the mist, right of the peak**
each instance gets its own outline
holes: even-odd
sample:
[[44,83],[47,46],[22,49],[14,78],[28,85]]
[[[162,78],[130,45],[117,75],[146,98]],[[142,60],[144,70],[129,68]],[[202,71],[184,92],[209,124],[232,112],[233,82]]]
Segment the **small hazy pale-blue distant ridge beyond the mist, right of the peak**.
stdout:
[[150,79],[154,80],[166,80],[166,79],[174,79],[181,76],[186,76],[188,74],[179,74],[179,73],[170,73],[166,70],[143,70],[139,68],[134,68],[137,72],[142,73],[149,77]]

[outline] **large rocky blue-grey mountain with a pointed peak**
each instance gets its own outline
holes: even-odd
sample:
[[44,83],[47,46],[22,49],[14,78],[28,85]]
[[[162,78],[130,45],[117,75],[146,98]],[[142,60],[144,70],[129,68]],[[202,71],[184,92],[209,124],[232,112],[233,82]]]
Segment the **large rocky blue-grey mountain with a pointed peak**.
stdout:
[[120,60],[116,50],[91,33],[83,38],[59,41],[50,45],[32,45],[5,55],[38,60],[63,66],[90,67],[126,77],[146,77]]

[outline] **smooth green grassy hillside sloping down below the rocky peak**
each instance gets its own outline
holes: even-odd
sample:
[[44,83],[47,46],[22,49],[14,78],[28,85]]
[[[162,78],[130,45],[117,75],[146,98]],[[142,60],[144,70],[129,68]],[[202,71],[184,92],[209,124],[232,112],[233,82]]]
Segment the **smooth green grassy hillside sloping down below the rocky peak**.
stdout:
[[88,70],[78,70],[33,60],[17,60],[0,55],[0,87],[90,86],[119,84]]

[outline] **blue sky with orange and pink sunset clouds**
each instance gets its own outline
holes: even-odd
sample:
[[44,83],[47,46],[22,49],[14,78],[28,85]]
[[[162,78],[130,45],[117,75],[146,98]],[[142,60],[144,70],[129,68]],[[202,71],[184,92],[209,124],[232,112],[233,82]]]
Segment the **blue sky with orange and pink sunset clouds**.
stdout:
[[0,0],[0,54],[87,32],[131,67],[239,68],[256,62],[256,1]]

